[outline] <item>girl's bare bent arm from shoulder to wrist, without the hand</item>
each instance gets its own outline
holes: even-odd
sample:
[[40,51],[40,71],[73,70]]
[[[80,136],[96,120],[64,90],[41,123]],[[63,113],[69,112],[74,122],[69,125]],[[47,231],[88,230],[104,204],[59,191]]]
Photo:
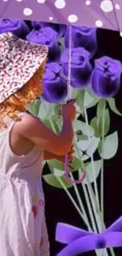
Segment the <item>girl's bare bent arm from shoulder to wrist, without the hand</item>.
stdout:
[[63,118],[61,133],[57,135],[47,128],[39,118],[28,113],[24,113],[21,121],[14,125],[14,131],[18,136],[31,140],[35,145],[50,151],[51,154],[62,156],[68,153],[74,138],[74,129],[70,118]]

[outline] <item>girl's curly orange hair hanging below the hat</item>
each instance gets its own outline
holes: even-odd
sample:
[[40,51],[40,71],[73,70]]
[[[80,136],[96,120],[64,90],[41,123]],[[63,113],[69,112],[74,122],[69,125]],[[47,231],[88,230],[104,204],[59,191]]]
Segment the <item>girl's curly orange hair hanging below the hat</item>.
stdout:
[[35,98],[42,95],[45,64],[46,61],[43,61],[43,64],[35,72],[35,75],[31,77],[31,80],[0,104],[0,127],[7,128],[6,123],[3,121],[4,117],[7,116],[17,120],[18,114],[27,111],[29,109],[28,104],[34,102]]

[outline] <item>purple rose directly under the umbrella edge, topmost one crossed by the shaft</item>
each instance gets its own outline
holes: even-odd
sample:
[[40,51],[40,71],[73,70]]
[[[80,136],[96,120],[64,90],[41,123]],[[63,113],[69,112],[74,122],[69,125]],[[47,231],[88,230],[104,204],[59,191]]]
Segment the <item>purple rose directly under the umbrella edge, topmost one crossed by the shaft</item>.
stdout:
[[[69,45],[69,28],[65,33],[65,46]],[[83,47],[94,55],[97,48],[97,28],[72,26],[72,47]]]

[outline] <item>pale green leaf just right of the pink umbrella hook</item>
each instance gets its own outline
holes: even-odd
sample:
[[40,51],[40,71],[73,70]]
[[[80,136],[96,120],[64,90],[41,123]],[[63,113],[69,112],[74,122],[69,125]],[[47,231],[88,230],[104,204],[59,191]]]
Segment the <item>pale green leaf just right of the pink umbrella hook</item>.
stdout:
[[[94,168],[94,172],[93,172],[93,168]],[[93,165],[91,162],[87,163],[87,166],[85,167],[85,169],[87,171],[88,179],[91,183],[94,182],[94,179],[96,180],[98,178],[101,168],[102,168],[102,160],[94,161]],[[83,180],[83,184],[88,184],[87,178]]]

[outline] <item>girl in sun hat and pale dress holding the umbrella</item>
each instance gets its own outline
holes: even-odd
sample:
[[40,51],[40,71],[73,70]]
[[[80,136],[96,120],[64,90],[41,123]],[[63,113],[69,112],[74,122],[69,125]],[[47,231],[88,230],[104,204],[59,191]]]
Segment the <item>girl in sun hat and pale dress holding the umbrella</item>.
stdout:
[[56,135],[26,113],[43,92],[48,50],[11,33],[0,35],[0,252],[2,256],[49,256],[40,176],[43,160],[72,159],[74,102],[62,107]]

